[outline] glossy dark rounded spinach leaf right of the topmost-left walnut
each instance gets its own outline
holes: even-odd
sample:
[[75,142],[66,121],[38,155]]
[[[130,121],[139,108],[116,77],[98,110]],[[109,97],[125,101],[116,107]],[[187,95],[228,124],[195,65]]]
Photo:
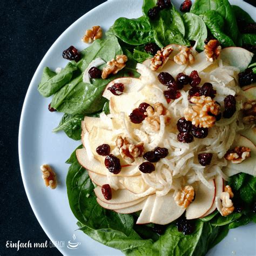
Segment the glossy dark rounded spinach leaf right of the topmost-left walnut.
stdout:
[[113,25],[113,32],[122,41],[131,45],[140,45],[153,41],[153,30],[149,19],[144,16],[138,19],[117,19]]

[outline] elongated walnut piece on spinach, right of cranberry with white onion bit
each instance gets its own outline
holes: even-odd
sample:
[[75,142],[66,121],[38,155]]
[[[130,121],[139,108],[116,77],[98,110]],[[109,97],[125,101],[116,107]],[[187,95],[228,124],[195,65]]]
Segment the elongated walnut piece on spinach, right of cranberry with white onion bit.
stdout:
[[110,74],[116,74],[125,67],[128,58],[126,55],[117,55],[116,60],[112,59],[107,62],[102,70],[102,78],[106,79]]

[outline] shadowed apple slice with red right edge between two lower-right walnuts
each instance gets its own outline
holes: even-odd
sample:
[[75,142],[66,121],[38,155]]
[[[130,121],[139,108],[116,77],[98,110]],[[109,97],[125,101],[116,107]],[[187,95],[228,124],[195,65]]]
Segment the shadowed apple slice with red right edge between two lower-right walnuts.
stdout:
[[194,201],[186,208],[188,220],[200,218],[212,207],[215,199],[214,179],[210,180],[209,183],[212,185],[210,188],[203,183],[198,185]]

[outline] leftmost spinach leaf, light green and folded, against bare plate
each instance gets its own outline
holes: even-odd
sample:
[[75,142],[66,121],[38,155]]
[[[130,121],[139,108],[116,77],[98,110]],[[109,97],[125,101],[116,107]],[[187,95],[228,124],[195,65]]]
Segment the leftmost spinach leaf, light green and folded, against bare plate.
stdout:
[[77,66],[71,62],[58,74],[45,67],[41,83],[38,85],[38,91],[42,96],[50,97],[66,83],[70,82],[75,70],[77,70]]

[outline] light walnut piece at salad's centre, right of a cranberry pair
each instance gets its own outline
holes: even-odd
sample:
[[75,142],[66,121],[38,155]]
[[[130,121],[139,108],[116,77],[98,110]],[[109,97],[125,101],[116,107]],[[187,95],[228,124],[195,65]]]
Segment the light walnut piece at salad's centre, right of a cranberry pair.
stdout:
[[171,113],[169,110],[166,109],[166,107],[161,104],[160,102],[157,102],[152,106],[148,106],[145,112],[145,115],[147,116],[144,120],[145,124],[149,124],[154,131],[160,130],[160,118],[159,116],[164,116],[164,122],[165,124],[168,124],[171,120]]

